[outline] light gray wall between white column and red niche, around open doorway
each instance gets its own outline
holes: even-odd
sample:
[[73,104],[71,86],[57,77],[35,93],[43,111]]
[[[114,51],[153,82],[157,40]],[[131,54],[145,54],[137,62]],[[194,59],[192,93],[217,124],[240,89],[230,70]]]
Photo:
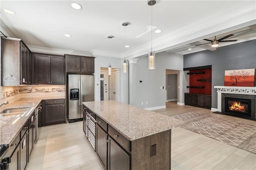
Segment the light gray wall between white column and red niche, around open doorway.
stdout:
[[[168,54],[166,51],[157,53],[154,70],[148,69],[148,56],[138,59],[136,106],[141,108],[165,106],[166,69],[183,70],[183,55]],[[139,82],[140,80],[142,83]],[[164,89],[160,89],[162,86]]]

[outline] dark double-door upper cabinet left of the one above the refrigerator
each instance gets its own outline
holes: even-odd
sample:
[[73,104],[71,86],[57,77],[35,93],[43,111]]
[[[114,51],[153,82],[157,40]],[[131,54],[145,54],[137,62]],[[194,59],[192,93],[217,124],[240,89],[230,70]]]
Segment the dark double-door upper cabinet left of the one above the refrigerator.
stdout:
[[32,84],[65,84],[64,56],[33,53],[32,63]]

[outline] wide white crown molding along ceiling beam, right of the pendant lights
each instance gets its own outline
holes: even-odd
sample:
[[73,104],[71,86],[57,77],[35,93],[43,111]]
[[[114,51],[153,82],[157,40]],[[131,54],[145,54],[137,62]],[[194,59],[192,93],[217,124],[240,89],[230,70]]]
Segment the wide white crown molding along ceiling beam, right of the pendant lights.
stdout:
[[[255,24],[256,7],[254,1],[243,1],[226,10],[198,20],[190,25],[175,30],[152,41],[156,52],[165,51],[181,45],[196,42],[204,38],[224,34],[236,29]],[[215,32],[213,32],[213,30]],[[127,57],[139,57],[148,53],[151,42],[126,52]]]

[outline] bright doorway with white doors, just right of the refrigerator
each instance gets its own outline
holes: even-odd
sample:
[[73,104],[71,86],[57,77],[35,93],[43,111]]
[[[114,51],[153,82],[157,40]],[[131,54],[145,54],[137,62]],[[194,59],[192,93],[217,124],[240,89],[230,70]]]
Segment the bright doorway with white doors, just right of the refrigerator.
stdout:
[[108,68],[100,67],[100,100],[120,101],[120,69],[112,68],[108,75]]

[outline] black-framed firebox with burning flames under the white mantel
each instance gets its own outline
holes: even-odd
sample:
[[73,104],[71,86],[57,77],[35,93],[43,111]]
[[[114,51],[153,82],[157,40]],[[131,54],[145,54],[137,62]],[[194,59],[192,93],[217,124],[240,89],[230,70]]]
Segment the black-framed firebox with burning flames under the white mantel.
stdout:
[[251,99],[225,97],[225,113],[251,117]]

